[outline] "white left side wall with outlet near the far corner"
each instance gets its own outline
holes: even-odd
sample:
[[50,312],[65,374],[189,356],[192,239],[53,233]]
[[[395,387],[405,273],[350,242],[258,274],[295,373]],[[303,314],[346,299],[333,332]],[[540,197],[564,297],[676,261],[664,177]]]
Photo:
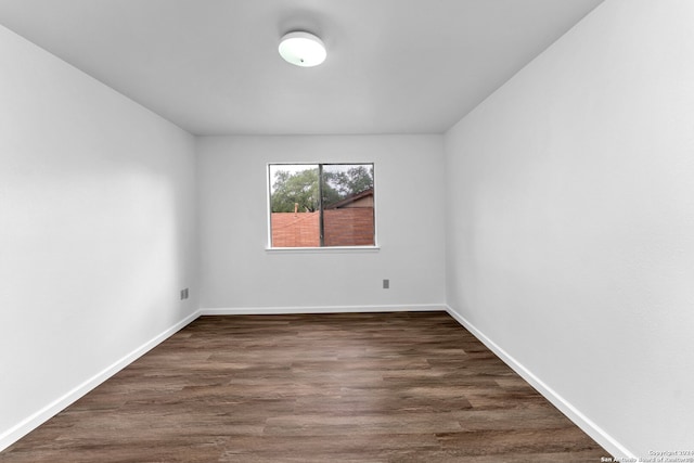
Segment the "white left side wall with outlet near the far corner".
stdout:
[[197,301],[193,137],[3,27],[0,56],[1,450]]

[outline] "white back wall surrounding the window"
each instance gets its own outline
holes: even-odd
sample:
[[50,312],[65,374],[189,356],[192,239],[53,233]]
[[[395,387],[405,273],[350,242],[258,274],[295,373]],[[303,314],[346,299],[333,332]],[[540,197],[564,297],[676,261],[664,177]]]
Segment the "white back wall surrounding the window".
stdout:
[[[197,155],[204,310],[442,307],[441,136],[213,137]],[[267,252],[273,162],[375,163],[381,250]]]

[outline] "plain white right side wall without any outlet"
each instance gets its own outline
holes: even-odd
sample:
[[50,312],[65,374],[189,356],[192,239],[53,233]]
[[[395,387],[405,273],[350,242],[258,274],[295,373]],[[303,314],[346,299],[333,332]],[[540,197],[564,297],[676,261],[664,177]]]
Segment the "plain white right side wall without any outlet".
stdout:
[[693,24],[607,0],[446,136],[449,305],[643,458],[694,447]]

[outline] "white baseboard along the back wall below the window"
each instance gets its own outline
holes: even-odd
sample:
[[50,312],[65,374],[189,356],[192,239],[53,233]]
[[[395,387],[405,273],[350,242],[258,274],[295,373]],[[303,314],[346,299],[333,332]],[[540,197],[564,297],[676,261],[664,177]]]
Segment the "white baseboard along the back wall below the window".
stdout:
[[201,316],[262,316],[283,313],[340,313],[340,312],[417,312],[446,311],[446,304],[386,305],[386,306],[316,306],[316,307],[230,307],[201,309]]

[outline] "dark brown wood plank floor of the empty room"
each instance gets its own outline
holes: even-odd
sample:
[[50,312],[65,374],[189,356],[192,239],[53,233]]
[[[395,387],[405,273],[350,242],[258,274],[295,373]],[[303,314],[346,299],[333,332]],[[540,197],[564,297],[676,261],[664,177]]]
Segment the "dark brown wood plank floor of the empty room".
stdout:
[[445,312],[203,317],[2,462],[600,462]]

